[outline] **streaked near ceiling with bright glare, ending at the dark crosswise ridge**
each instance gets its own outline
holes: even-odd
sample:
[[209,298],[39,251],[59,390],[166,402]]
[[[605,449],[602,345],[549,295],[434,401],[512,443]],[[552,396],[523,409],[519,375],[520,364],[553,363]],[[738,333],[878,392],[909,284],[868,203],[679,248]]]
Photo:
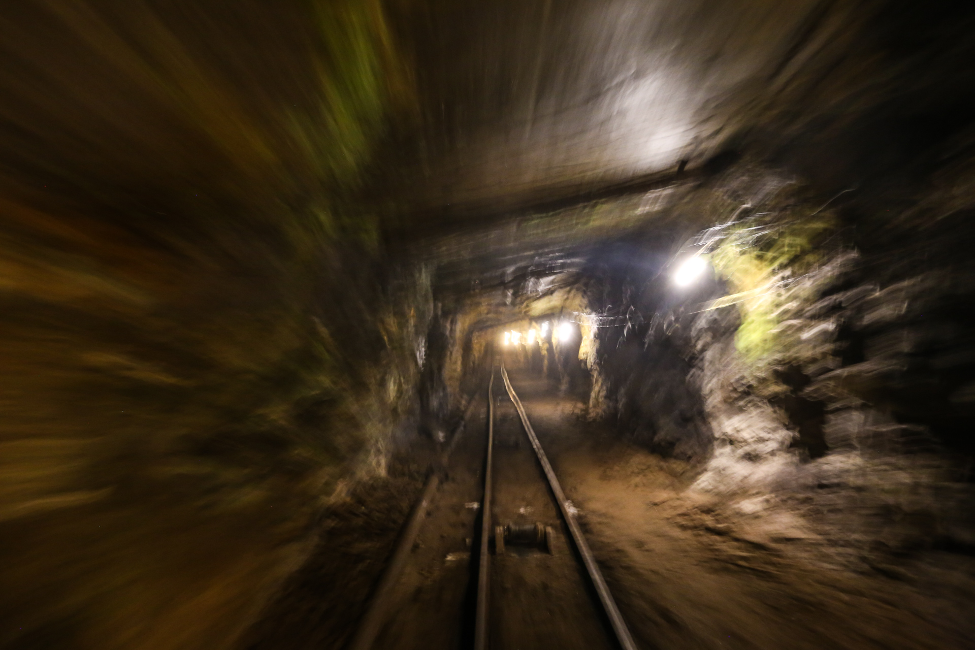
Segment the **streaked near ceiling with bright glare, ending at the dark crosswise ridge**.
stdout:
[[581,201],[746,148],[827,191],[856,183],[952,134],[933,116],[970,103],[968,66],[951,64],[970,39],[930,47],[968,21],[935,4],[402,2],[418,136],[412,172],[382,182],[425,225]]

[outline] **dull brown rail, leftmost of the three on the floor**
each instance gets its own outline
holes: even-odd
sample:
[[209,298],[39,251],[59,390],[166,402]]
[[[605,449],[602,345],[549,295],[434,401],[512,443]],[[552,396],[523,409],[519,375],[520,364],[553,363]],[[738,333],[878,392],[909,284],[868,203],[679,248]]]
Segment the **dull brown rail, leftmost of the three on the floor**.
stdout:
[[386,564],[386,568],[383,569],[379,583],[376,585],[375,591],[370,598],[366,614],[360,619],[359,627],[356,629],[355,636],[352,637],[352,641],[348,645],[348,650],[370,650],[372,644],[375,643],[375,637],[379,635],[382,623],[386,620],[389,608],[393,604],[394,588],[400,580],[403,569],[406,568],[409,553],[412,551],[413,543],[416,541],[416,535],[420,531],[423,519],[426,518],[430,502],[433,500],[433,495],[440,485],[441,473],[447,467],[450,453],[457,445],[457,440],[460,439],[460,435],[464,431],[464,423],[467,421],[467,415],[473,403],[474,400],[470,401],[467,404],[467,408],[464,409],[460,424],[454,429],[450,443],[440,457],[439,467],[437,465],[431,466],[430,474],[427,477],[426,483],[423,485],[420,498],[413,506],[413,511],[407,520],[406,526],[403,528],[403,532],[400,534],[400,539],[397,542],[393,556]]

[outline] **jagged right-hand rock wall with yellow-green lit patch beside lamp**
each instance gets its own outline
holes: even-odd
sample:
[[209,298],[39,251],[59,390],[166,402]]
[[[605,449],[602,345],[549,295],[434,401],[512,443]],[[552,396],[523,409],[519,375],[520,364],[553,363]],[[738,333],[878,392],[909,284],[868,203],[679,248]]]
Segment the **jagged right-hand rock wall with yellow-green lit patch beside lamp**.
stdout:
[[[808,191],[754,167],[698,189],[724,224],[694,240],[715,277],[681,292],[662,287],[665,270],[631,291],[640,322],[601,334],[610,417],[696,460],[694,490],[761,497],[835,560],[889,568],[893,556],[968,554],[969,209],[927,197],[910,218],[861,222],[882,241],[876,230],[858,239],[844,220],[853,207],[822,210]],[[612,282],[623,295],[645,281]]]

